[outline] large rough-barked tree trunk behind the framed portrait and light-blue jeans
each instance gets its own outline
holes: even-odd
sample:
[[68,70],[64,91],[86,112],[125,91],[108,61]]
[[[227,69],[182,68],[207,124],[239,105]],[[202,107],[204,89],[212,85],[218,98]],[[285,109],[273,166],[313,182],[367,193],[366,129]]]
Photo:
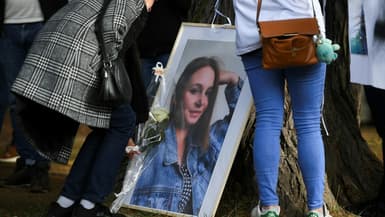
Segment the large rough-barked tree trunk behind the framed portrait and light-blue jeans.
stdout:
[[[220,11],[234,20],[232,2],[220,3]],[[194,1],[190,11],[193,22],[211,23],[215,1]],[[221,19],[216,23],[226,23]],[[377,196],[382,179],[382,163],[369,149],[359,127],[359,85],[349,81],[348,3],[347,0],[329,0],[326,4],[326,30],[332,41],[341,45],[339,58],[328,65],[325,85],[324,131],[327,179],[325,202],[334,212],[340,207],[354,206]],[[286,121],[281,134],[281,165],[278,193],[282,216],[304,216],[306,190],[297,163],[296,136],[286,97]],[[224,197],[251,199],[251,209],[257,200],[257,189],[252,163],[254,114],[249,123],[226,185]],[[227,196],[226,192],[231,194]],[[344,211],[338,211],[338,213]],[[341,216],[338,214],[338,216]],[[345,214],[344,216],[349,216]]]

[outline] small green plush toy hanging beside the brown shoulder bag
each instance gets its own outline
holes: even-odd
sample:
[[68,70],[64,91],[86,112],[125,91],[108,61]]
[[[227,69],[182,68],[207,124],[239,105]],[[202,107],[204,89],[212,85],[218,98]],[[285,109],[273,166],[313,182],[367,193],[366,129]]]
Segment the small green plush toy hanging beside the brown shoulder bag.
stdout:
[[337,59],[338,54],[335,52],[340,49],[339,44],[332,44],[327,38],[319,38],[317,40],[317,58],[320,62],[330,64]]

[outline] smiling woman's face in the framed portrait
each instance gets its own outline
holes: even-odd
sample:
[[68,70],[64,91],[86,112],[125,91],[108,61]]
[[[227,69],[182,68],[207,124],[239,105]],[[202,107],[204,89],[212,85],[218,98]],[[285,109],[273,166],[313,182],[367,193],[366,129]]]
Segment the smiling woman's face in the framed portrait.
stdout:
[[183,116],[186,126],[194,125],[206,111],[214,86],[215,73],[210,66],[198,69],[183,94]]

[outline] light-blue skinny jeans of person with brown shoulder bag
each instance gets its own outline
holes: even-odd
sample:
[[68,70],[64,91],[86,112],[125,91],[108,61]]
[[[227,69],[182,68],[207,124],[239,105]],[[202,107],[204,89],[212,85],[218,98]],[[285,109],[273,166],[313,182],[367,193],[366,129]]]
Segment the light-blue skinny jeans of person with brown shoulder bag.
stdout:
[[283,70],[265,70],[261,60],[261,50],[242,56],[256,110],[253,152],[261,205],[279,204],[276,188],[284,114],[284,84],[287,80],[307,204],[309,209],[319,208],[323,204],[325,178],[320,117],[326,65],[320,63]]

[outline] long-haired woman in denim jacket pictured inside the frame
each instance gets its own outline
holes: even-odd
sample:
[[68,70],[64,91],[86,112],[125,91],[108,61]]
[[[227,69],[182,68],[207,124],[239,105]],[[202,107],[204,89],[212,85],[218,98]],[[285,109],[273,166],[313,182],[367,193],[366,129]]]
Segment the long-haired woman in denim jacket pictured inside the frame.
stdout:
[[[212,57],[186,66],[171,99],[165,138],[147,153],[132,204],[198,214],[242,84]],[[226,85],[230,113],[210,125],[219,85]]]

